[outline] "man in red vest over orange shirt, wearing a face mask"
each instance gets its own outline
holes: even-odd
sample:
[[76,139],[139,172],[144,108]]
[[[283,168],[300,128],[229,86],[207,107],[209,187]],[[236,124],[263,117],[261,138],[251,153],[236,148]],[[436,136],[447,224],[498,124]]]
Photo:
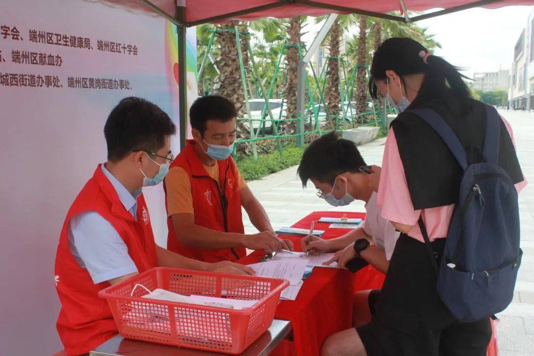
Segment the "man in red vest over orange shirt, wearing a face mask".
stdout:
[[[237,261],[248,249],[293,250],[274,233],[269,218],[241,177],[231,154],[235,141],[233,103],[200,97],[189,111],[192,140],[171,163],[164,181],[167,248],[205,262]],[[260,233],[245,234],[241,207]]]

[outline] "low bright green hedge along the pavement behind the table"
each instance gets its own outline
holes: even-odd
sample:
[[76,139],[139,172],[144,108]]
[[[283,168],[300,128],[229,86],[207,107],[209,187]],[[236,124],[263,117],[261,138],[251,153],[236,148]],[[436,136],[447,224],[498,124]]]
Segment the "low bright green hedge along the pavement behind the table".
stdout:
[[239,172],[245,180],[260,179],[271,173],[293,167],[300,163],[304,150],[300,147],[286,147],[284,154],[280,156],[278,151],[258,156],[254,161],[253,157],[245,157],[237,160]]

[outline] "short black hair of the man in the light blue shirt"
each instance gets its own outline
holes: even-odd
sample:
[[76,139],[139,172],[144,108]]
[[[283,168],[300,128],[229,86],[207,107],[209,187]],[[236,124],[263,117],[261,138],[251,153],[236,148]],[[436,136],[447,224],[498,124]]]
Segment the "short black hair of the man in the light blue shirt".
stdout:
[[116,162],[135,150],[157,152],[176,126],[158,105],[136,97],[122,99],[104,125],[108,161]]

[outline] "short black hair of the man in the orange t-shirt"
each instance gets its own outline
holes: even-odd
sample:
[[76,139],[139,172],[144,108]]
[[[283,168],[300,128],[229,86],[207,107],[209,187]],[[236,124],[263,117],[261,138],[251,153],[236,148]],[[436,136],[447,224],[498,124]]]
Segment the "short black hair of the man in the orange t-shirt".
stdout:
[[191,128],[204,135],[208,120],[227,122],[237,117],[237,110],[232,101],[219,95],[199,97],[189,109]]

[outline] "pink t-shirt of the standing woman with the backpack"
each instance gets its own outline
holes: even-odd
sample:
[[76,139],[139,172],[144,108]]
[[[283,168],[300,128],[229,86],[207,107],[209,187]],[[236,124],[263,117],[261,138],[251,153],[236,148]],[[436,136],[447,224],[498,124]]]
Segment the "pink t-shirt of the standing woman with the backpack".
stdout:
[[[501,116],[501,119],[505,123],[515,147],[512,127],[504,117]],[[526,185],[526,179],[517,183],[515,185],[517,192],[519,193]],[[446,238],[447,236],[454,204],[414,210],[393,130],[389,130],[386,147],[384,147],[382,172],[380,173],[378,190],[378,205],[384,219],[392,223],[411,225],[412,228],[408,232],[408,235],[416,240],[421,242],[425,241],[417,225],[419,216],[423,218],[430,241]]]

